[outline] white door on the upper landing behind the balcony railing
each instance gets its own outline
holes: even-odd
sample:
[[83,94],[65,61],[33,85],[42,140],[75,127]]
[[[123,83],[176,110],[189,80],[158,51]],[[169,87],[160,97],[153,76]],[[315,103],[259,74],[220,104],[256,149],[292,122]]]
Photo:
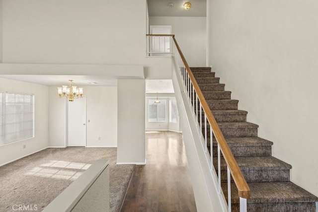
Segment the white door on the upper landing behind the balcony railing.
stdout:
[[[150,34],[170,35],[171,26],[150,26]],[[171,52],[171,37],[151,37],[150,52],[153,53],[169,53]],[[162,56],[162,55],[161,55]]]

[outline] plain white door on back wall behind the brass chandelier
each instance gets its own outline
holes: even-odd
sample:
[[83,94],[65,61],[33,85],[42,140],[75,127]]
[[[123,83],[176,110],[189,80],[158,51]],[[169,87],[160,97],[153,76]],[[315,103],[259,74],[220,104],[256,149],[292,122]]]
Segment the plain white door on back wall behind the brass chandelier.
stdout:
[[68,146],[86,146],[86,97],[68,102]]

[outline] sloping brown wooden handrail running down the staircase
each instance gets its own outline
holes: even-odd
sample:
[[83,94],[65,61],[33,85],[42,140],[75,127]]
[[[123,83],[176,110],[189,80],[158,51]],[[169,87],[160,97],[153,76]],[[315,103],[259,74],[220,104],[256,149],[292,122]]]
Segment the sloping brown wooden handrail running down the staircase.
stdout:
[[[201,102],[202,108],[206,114],[206,117],[210,123],[210,126],[213,129],[214,136],[215,136],[215,138],[216,138],[216,140],[221,148],[223,157],[224,157],[224,159],[225,159],[225,161],[226,161],[226,163],[231,171],[232,178],[233,178],[233,180],[238,188],[238,191],[239,191],[239,197],[244,198],[244,199],[249,199],[250,190],[249,190],[249,187],[246,183],[246,180],[245,180],[242,172],[239,169],[239,165],[238,165],[237,161],[235,160],[227,141],[225,141],[225,138],[224,138],[224,136],[219,128],[219,125],[215,121],[215,118],[212,115],[210,107],[209,107],[207,101],[205,100],[205,98],[201,92],[201,89],[199,88],[199,85],[198,85],[197,81],[195,80],[194,75],[192,74],[192,71],[189,68],[188,63],[186,62],[177,41],[175,40],[174,36],[172,36],[172,38],[173,38],[175,46],[180,54],[181,60],[184,63],[185,69],[188,72],[190,80],[192,81],[193,87],[198,95],[198,98]],[[212,145],[212,141],[211,141],[210,145]],[[211,157],[212,157],[212,152],[211,152]],[[219,177],[221,177],[221,176],[219,176]]]

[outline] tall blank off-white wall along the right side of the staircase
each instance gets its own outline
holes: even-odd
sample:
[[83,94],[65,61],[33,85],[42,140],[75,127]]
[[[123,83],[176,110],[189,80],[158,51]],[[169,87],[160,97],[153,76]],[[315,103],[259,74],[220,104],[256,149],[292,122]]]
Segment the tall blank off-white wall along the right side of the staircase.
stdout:
[[318,196],[318,1],[209,5],[209,64],[273,156],[293,166],[291,180]]

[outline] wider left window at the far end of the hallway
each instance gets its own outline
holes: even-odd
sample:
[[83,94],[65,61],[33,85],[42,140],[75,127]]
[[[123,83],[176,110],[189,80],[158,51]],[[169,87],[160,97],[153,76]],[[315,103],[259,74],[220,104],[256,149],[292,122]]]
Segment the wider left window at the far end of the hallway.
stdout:
[[155,103],[155,100],[148,100],[149,105],[149,122],[165,122],[165,100]]

